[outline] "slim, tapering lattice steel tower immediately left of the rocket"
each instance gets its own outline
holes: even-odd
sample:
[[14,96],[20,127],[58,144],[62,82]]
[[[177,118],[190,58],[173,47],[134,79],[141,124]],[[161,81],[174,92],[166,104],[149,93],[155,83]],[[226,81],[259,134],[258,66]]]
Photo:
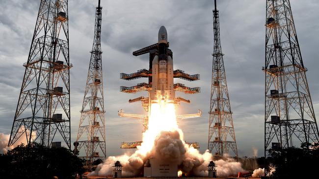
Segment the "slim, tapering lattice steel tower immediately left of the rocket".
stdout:
[[[106,137],[104,118],[104,96],[102,75],[102,51],[101,51],[101,22],[102,7],[96,7],[94,40],[89,64],[89,70],[84,91],[84,99],[81,110],[79,132],[75,145],[75,153],[85,153],[80,157],[85,159],[88,170],[93,167],[96,160],[106,159]],[[82,136],[85,134],[84,136]]]

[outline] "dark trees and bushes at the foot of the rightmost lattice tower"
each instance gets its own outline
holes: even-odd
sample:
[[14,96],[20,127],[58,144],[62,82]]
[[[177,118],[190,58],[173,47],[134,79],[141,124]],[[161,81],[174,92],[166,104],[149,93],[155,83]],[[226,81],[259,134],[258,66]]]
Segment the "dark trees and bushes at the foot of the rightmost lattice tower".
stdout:
[[[242,157],[242,168],[253,172],[254,169],[270,166],[271,179],[314,178],[318,170],[319,144],[301,144],[301,148],[287,148],[270,151],[270,157]],[[268,169],[269,170],[269,169]]]

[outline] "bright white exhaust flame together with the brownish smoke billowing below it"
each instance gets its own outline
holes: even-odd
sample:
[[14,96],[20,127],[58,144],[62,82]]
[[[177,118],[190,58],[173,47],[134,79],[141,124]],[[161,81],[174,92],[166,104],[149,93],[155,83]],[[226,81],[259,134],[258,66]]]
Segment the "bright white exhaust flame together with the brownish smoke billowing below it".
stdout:
[[[164,108],[162,108],[164,106]],[[143,142],[133,155],[124,154],[108,157],[104,163],[98,165],[96,171],[90,175],[111,176],[112,164],[121,161],[124,177],[142,174],[144,163],[155,157],[160,161],[177,162],[179,170],[190,176],[208,176],[208,163],[213,160],[211,153],[200,154],[197,149],[185,143],[184,135],[176,122],[173,104],[152,104],[148,130],[143,133]],[[234,160],[217,160],[218,176],[236,176],[243,172],[241,164]]]

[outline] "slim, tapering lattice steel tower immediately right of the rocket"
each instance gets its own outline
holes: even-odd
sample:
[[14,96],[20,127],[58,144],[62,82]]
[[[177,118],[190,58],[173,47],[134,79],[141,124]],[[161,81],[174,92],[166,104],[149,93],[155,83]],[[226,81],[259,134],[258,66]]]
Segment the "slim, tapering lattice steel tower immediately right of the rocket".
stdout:
[[208,134],[208,149],[214,157],[223,157],[229,150],[238,157],[232,111],[230,108],[223,53],[220,44],[219,12],[213,10],[213,72]]

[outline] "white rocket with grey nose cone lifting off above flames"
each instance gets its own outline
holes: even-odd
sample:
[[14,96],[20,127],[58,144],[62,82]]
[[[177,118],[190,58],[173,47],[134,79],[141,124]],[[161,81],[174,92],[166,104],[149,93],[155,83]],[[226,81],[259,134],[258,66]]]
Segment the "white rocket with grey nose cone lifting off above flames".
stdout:
[[167,31],[164,26],[159,30],[159,51],[152,62],[152,90],[150,91],[151,103],[174,103],[174,71],[173,59],[167,54],[169,43]]

